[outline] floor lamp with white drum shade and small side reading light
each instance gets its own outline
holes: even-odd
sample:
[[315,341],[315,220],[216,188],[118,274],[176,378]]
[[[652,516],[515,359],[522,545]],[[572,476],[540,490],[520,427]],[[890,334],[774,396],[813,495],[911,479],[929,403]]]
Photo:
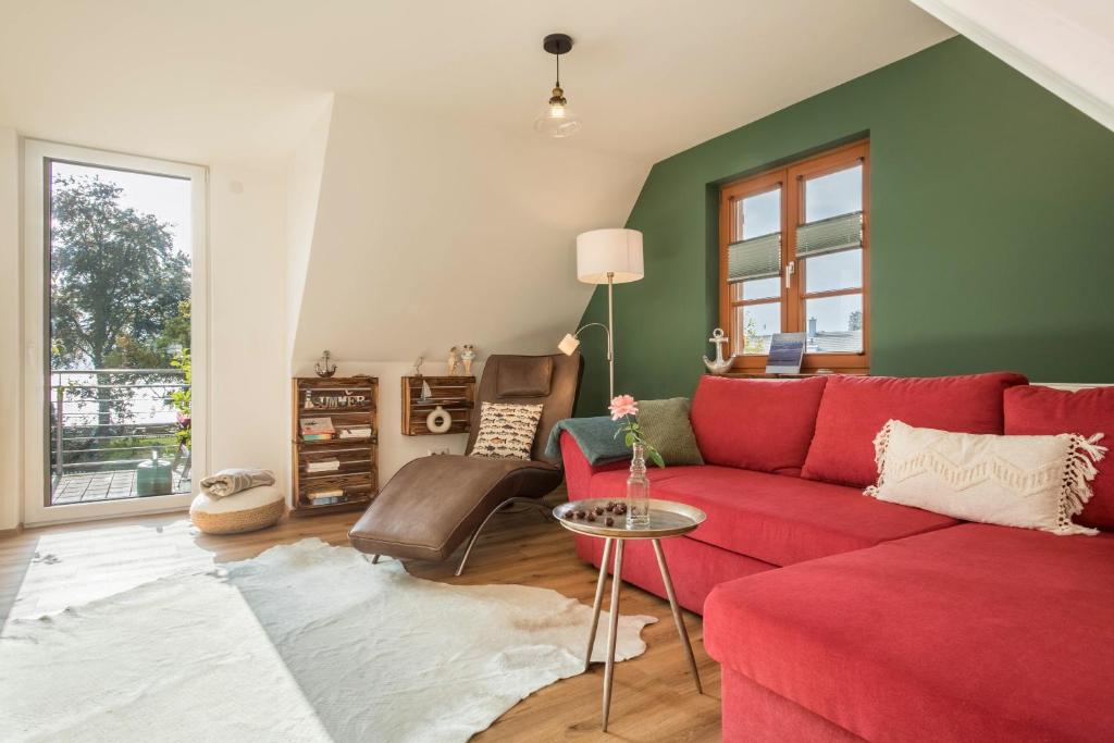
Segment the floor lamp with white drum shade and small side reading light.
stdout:
[[576,277],[585,284],[607,284],[607,324],[588,323],[566,334],[557,345],[571,354],[580,345],[580,333],[598,325],[607,332],[608,399],[615,397],[615,284],[638,281],[646,275],[642,262],[642,233],[637,229],[593,229],[576,237]]

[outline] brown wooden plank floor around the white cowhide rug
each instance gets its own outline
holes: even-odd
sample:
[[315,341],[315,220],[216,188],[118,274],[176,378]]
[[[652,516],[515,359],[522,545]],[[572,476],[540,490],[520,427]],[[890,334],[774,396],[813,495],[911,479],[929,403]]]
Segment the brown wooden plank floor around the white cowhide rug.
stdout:
[[[564,499],[556,497],[557,500]],[[0,617],[57,612],[211,560],[253,557],[276,544],[319,537],[348,544],[356,514],[287,519],[255,534],[197,535],[183,515],[35,529],[0,538]],[[571,535],[537,514],[497,517],[466,574],[451,564],[410,563],[413,575],[446,583],[525,584],[590,604],[596,570],[576,558]],[[475,741],[719,741],[720,668],[704,652],[700,617],[685,613],[704,682],[697,695],[677,644],[668,604],[624,586],[622,612],[658,617],[643,630],[648,648],[616,665],[610,730],[599,732],[603,664],[530,695]]]

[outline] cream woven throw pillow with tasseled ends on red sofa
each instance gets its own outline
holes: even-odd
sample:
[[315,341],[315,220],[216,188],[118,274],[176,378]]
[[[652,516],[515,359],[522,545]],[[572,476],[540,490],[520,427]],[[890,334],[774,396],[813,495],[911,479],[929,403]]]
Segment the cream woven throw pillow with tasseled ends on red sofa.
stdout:
[[1097,534],[1072,517],[1091,498],[1102,438],[951,433],[891,420],[874,439],[878,485],[866,493],[967,521]]

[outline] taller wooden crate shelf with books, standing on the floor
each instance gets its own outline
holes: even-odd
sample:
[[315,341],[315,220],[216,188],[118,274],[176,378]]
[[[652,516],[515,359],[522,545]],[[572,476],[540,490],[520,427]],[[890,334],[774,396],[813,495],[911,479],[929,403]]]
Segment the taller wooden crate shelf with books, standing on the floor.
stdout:
[[294,516],[365,508],[379,491],[379,380],[293,380]]

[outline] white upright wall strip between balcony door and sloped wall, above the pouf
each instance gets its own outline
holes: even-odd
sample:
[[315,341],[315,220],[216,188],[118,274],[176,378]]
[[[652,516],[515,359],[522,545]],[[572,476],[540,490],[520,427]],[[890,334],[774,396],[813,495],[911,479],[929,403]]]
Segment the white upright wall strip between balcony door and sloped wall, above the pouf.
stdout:
[[283,487],[291,428],[285,206],[284,168],[211,168],[211,469],[266,467]]

